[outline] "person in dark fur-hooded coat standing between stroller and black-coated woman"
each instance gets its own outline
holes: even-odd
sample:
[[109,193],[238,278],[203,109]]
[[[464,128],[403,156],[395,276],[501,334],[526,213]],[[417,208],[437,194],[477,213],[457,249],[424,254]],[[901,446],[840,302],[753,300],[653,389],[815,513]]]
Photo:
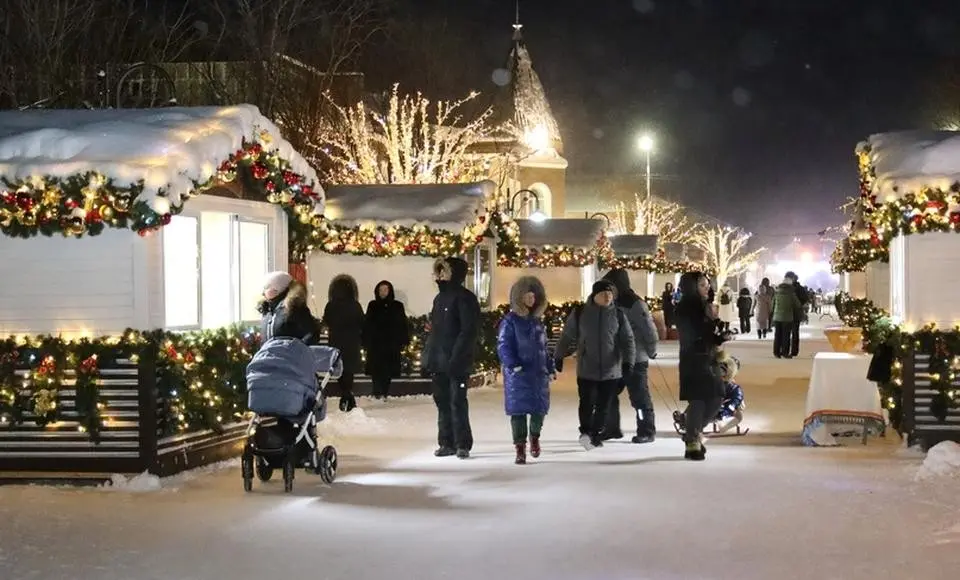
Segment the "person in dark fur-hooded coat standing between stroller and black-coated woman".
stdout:
[[343,374],[337,380],[341,411],[351,411],[357,406],[353,396],[353,377],[360,370],[363,332],[363,307],[357,298],[357,281],[339,274],[330,281],[327,305],[323,309],[323,323],[329,333],[330,346],[340,350],[343,361]]

